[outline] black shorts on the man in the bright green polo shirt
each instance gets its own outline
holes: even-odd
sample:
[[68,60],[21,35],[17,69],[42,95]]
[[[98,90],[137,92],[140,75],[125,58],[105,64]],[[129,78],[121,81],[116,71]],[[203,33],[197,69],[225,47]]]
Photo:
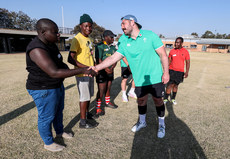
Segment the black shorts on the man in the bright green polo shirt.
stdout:
[[149,93],[153,97],[162,98],[164,96],[164,92],[165,92],[165,85],[163,83],[135,87],[135,93],[137,95],[137,98],[141,98]]

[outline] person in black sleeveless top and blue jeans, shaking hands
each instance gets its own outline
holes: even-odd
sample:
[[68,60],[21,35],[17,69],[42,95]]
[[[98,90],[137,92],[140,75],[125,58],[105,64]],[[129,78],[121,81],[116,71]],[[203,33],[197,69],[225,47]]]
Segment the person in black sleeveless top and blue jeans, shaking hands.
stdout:
[[40,19],[36,24],[38,36],[26,49],[26,69],[29,72],[26,82],[38,110],[38,130],[44,141],[44,148],[61,151],[64,146],[53,141],[52,124],[57,137],[72,138],[63,132],[63,109],[65,89],[63,80],[76,74],[95,76],[93,70],[85,68],[69,69],[63,63],[55,42],[60,38],[58,27],[50,19]]

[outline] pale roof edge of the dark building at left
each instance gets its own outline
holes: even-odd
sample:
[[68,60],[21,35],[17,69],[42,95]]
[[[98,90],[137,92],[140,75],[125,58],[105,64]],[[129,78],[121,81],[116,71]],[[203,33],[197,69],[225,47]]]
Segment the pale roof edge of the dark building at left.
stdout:
[[[0,28],[0,34],[12,34],[12,35],[38,35],[36,31],[26,31],[26,30],[15,30],[15,29],[2,29]],[[61,34],[60,37],[69,38],[72,34]]]

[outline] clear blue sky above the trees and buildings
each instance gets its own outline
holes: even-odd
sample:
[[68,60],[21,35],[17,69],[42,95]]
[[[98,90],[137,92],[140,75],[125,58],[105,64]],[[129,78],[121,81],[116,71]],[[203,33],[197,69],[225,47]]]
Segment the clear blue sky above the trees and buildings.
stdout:
[[23,11],[31,18],[50,18],[73,28],[82,14],[114,33],[122,33],[120,18],[133,14],[143,29],[166,37],[206,30],[230,34],[230,0],[0,0],[0,7]]

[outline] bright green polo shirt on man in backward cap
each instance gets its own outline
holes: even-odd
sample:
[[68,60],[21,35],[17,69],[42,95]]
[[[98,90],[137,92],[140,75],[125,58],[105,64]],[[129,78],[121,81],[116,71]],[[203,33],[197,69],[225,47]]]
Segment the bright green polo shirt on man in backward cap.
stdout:
[[161,60],[155,51],[162,46],[161,39],[148,30],[140,30],[136,40],[125,34],[120,37],[117,52],[126,57],[135,86],[147,86],[162,82]]

